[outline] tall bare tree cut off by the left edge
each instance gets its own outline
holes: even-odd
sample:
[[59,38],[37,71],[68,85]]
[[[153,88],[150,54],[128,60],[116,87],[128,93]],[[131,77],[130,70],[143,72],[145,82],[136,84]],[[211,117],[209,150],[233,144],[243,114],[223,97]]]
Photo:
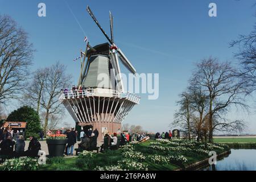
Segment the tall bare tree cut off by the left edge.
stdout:
[[26,87],[32,44],[27,33],[7,15],[0,15],[0,103],[18,98]]

